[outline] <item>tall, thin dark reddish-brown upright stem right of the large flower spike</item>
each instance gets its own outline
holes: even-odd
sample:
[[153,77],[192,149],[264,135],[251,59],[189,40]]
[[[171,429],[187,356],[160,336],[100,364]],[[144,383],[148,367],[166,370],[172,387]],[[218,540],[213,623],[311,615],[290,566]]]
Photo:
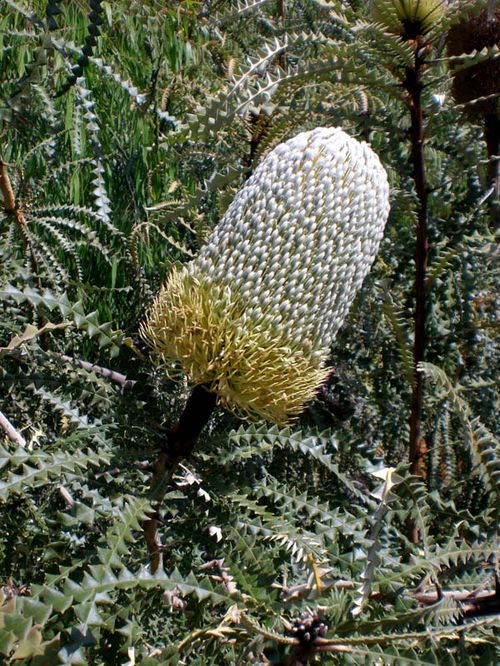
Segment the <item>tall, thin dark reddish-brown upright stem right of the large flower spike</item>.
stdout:
[[[411,114],[411,157],[413,180],[418,198],[416,248],[415,248],[415,311],[413,365],[414,383],[411,398],[409,461],[410,473],[419,475],[422,467],[421,425],[423,407],[423,377],[417,371],[418,364],[424,360],[426,347],[427,294],[425,287],[429,240],[427,234],[427,199],[428,186],[424,161],[424,113],[422,107],[422,73],[424,68],[424,49],[415,51],[415,64],[407,68],[404,87],[408,93]],[[410,540],[418,543],[419,535],[415,524],[409,526]]]

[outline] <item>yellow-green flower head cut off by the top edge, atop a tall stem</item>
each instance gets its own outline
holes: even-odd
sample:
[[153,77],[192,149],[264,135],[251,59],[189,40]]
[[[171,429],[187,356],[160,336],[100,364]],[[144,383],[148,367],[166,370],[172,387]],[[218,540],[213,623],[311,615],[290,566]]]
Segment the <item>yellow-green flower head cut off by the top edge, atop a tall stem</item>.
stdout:
[[441,20],[445,0],[375,0],[373,18],[403,39],[425,35]]

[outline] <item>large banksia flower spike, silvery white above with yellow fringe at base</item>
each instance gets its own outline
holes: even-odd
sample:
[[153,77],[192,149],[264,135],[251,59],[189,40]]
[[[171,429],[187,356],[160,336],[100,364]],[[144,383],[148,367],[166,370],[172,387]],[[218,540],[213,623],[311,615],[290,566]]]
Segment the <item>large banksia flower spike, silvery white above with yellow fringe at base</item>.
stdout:
[[172,271],[141,334],[167,372],[182,370],[241,415],[285,423],[329,373],[388,196],[378,157],[341,129],[280,144],[196,259]]

